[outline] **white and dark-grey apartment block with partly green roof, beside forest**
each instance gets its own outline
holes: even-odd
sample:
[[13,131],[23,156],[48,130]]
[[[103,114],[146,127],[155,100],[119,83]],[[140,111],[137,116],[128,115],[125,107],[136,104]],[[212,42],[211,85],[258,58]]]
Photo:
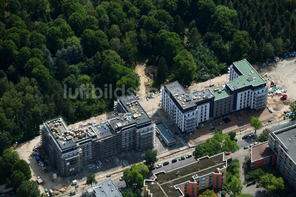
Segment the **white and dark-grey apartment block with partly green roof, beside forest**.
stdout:
[[161,88],[161,106],[182,133],[192,132],[209,120],[234,112],[266,107],[268,87],[247,60],[230,65],[229,81],[219,87],[186,92],[178,81]]

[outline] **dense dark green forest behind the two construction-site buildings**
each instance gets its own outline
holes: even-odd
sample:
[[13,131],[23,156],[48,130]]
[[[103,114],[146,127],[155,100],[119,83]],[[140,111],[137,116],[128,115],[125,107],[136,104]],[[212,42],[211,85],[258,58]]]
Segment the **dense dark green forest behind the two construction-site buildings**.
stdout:
[[158,66],[158,84],[189,85],[225,73],[242,58],[262,62],[295,49],[295,5],[295,0],[0,0],[0,154],[38,135],[50,117],[73,123],[112,109],[112,99],[96,99],[97,91],[87,97],[78,89],[77,99],[64,98],[64,84],[136,89],[140,79],[133,69],[146,61]]

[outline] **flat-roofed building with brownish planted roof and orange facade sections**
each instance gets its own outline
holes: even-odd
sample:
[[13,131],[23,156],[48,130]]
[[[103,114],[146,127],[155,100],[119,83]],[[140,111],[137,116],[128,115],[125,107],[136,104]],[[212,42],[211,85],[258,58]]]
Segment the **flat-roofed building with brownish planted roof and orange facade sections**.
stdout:
[[200,190],[214,190],[221,196],[226,181],[227,160],[225,153],[205,156],[196,162],[168,172],[153,174],[152,180],[144,180],[144,197],[200,195]]

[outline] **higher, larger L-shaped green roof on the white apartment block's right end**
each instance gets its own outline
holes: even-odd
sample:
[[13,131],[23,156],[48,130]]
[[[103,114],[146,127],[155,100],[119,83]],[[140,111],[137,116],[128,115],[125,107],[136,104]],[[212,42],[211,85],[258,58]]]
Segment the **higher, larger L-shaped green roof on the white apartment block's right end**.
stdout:
[[[246,59],[234,62],[233,64],[233,66],[235,66],[242,73],[242,75],[233,81],[226,83],[231,89],[233,87],[234,89],[237,89],[248,85],[257,86],[266,83]],[[255,79],[248,80],[250,77],[255,77]]]

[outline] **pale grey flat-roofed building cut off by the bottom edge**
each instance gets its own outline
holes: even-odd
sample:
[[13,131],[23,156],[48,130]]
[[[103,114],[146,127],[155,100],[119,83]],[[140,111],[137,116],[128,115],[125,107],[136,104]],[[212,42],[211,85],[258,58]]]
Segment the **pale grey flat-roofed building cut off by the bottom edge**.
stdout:
[[120,191],[111,179],[104,180],[86,189],[86,197],[122,197]]

